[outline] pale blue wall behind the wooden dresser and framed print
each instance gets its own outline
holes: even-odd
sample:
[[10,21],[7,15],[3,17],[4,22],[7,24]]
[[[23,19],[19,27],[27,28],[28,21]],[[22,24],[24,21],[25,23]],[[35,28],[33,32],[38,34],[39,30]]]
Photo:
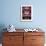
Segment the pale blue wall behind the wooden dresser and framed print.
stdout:
[[[32,4],[32,22],[20,21],[20,7]],[[46,0],[0,0],[0,27],[13,24],[16,28],[46,28]]]

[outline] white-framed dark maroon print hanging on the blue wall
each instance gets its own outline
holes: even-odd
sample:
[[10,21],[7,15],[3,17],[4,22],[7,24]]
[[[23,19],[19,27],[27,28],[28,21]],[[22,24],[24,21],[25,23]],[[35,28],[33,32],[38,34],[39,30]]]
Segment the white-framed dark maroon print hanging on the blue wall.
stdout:
[[21,21],[32,21],[32,5],[21,5]]

